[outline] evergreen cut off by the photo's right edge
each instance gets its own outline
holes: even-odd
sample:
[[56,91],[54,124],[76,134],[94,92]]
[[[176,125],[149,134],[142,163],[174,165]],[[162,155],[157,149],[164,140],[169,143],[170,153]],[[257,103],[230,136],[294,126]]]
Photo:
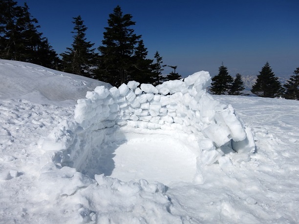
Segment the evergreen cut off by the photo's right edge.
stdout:
[[299,67],[294,71],[290,79],[283,85],[285,88],[284,98],[299,100]]

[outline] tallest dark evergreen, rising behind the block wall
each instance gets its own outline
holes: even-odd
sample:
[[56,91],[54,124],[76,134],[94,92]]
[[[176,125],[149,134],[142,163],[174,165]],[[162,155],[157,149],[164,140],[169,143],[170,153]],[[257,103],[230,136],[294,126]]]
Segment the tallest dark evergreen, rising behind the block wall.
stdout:
[[97,78],[114,86],[127,82],[132,74],[133,65],[136,65],[136,58],[133,56],[141,35],[134,34],[131,26],[136,22],[131,19],[130,14],[123,15],[121,7],[116,6],[113,13],[109,14],[103,46],[98,48],[101,52],[101,63],[97,70]]

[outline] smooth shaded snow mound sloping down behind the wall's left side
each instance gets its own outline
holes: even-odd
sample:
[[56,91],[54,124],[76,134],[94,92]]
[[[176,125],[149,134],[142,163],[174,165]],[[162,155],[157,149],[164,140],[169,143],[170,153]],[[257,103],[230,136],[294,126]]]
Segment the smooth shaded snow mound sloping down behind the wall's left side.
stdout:
[[86,91],[110,84],[21,61],[0,60],[0,99],[74,105]]

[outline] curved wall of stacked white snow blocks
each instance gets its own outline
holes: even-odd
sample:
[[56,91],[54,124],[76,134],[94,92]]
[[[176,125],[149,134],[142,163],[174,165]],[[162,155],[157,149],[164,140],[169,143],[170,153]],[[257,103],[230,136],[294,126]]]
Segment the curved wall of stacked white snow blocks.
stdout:
[[[238,118],[231,105],[215,101],[206,92],[211,84],[208,72],[184,80],[166,81],[154,87],[129,81],[119,88],[98,86],[78,100],[75,121],[64,121],[43,141],[50,161],[77,169],[84,166],[91,150],[113,140],[121,127],[182,131],[197,136],[198,149],[211,164],[221,147],[250,155],[255,142],[250,128]],[[114,136],[115,137],[115,136]],[[203,143],[204,142],[204,143]]]

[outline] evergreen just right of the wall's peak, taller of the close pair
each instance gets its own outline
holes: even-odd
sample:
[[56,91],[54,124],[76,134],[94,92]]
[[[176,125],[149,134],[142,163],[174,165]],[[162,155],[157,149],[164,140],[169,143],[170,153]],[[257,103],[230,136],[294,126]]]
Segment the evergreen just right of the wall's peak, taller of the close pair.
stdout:
[[227,95],[231,89],[234,79],[228,74],[227,67],[222,65],[219,67],[218,75],[212,78],[210,91],[216,95]]

